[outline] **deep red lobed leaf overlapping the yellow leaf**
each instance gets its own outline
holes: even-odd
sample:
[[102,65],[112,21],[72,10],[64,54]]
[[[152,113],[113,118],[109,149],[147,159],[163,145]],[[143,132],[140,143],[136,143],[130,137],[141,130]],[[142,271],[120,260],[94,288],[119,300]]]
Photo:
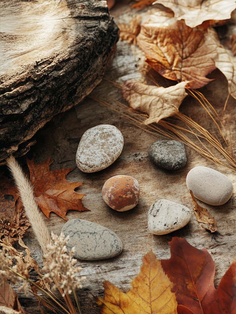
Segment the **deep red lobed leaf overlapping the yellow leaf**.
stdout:
[[177,237],[169,244],[171,257],[162,260],[161,265],[176,285],[178,313],[235,313],[236,262],[231,264],[215,289],[215,265],[205,248],[199,250]]

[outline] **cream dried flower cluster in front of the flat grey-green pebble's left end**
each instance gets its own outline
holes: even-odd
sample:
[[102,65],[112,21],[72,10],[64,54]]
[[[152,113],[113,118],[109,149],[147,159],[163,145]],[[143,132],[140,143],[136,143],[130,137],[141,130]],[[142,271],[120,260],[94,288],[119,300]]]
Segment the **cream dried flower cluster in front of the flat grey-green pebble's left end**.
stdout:
[[77,260],[73,258],[75,248],[72,248],[67,254],[66,245],[69,236],[65,237],[63,232],[61,232],[60,236],[56,236],[52,232],[51,238],[52,241],[47,246],[49,253],[45,254],[48,265],[42,269],[45,272],[43,278],[49,282],[54,281],[54,289],[62,289],[62,296],[64,297],[66,293],[71,294],[73,290],[81,289],[82,282],[86,280],[86,277],[76,276],[76,274],[81,272],[82,268],[75,266],[77,263]]

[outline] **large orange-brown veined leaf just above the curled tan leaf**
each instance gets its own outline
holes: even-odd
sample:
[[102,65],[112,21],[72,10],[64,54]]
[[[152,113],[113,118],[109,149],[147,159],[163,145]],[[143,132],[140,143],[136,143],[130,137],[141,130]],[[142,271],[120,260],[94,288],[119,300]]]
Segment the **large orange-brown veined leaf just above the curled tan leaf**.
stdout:
[[138,46],[146,62],[165,78],[191,81],[188,86],[200,88],[211,80],[206,75],[216,68],[216,43],[203,28],[192,29],[176,21],[173,13],[159,10],[141,25]]

